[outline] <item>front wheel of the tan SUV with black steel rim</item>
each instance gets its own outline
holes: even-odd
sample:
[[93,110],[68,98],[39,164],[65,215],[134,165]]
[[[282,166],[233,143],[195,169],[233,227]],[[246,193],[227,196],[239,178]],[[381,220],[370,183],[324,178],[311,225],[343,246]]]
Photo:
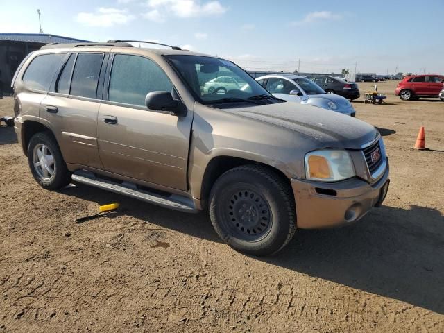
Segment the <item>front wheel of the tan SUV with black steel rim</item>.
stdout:
[[210,219],[235,250],[271,255],[296,232],[296,208],[287,182],[273,170],[245,165],[220,176],[210,193]]

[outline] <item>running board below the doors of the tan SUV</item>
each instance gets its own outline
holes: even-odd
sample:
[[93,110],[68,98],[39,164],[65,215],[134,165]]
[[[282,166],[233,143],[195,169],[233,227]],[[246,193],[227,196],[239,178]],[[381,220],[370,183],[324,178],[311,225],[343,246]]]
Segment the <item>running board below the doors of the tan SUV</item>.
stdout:
[[99,187],[99,189],[105,189],[123,196],[129,196],[138,200],[145,201],[146,203],[152,203],[162,207],[167,207],[172,210],[179,210],[180,212],[196,213],[198,210],[194,206],[193,200],[184,196],[178,196],[177,194],[171,194],[171,196],[164,197],[158,194],[153,194],[143,189],[137,189],[137,187],[130,182],[112,182],[103,178],[98,178],[94,173],[89,171],[76,171],[72,175],[72,180],[80,182],[85,185]]

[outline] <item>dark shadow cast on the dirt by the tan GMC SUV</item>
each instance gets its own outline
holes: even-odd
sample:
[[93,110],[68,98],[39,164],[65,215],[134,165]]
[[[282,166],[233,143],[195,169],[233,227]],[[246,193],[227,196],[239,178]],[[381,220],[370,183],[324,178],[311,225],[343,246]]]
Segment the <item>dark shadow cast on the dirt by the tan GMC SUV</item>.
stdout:
[[[133,216],[161,228],[221,243],[205,212],[176,212],[85,185],[62,189],[62,193],[99,205],[120,203],[111,218]],[[373,209],[345,228],[298,230],[277,255],[251,257],[439,314],[444,314],[443,258],[444,216],[438,210],[417,205],[410,209]]]

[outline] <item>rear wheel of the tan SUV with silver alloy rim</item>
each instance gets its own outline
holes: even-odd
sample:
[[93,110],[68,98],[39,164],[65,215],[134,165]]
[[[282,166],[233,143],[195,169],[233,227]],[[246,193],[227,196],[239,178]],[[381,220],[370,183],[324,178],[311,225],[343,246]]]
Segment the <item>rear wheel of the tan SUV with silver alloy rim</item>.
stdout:
[[28,145],[28,164],[35,180],[44,189],[60,189],[71,182],[71,175],[54,137],[40,132]]

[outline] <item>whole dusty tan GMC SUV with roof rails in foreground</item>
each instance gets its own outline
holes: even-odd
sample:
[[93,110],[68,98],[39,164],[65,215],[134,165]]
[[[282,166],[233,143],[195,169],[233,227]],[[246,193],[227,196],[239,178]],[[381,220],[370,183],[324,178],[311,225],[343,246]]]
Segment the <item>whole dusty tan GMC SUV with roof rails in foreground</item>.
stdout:
[[72,181],[207,209],[219,237],[251,255],[381,205],[388,160],[373,126],[277,99],[228,60],[130,42],[49,44],[17,69],[15,130],[44,189]]

